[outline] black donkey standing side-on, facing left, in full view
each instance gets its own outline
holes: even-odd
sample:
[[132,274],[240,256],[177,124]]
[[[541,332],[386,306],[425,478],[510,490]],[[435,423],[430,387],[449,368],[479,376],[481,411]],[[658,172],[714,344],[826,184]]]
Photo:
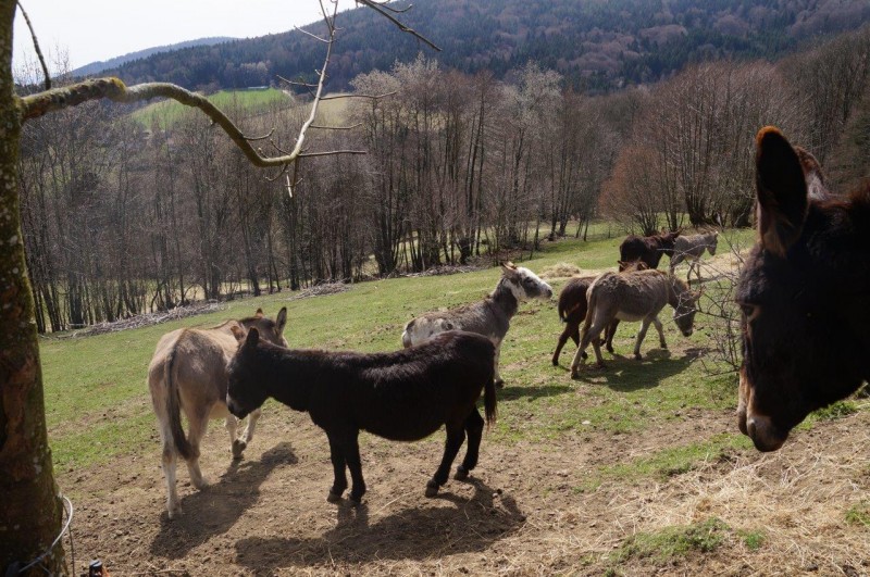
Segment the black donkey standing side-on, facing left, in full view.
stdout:
[[350,500],[365,493],[360,429],[396,441],[415,441],[447,428],[444,457],[426,484],[434,497],[447,482],[450,466],[468,434],[465,459],[456,479],[476,465],[484,419],[475,406],[484,391],[486,424],[495,422],[493,381],[495,347],[481,335],[448,331],[390,353],[287,350],[263,342],[257,329],[236,330],[239,347],[229,362],[229,411],[241,418],[272,397],[296,411],[308,411],[326,431],[335,479],[326,498],[340,501],[347,489],[345,466],[353,487]]

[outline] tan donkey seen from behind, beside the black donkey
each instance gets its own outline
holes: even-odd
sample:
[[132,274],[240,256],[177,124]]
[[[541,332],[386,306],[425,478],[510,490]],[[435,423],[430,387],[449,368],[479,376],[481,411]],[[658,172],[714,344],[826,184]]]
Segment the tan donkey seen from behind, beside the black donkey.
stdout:
[[[177,456],[187,463],[190,481],[197,489],[208,482],[199,469],[199,442],[206,435],[210,418],[226,418],[233,457],[241,454],[253,437],[260,411],[251,413],[241,438],[236,438],[238,421],[226,410],[226,367],[236,352],[233,329],[259,329],[264,339],[287,346],[282,336],[287,323],[287,308],[275,321],[263,316],[262,309],[248,318],[227,321],[213,328],[179,328],[161,337],[148,366],[148,388],[157,413],[163,444],[163,475],[166,481],[166,510],[170,518],[181,513],[175,490]],[[189,438],[182,428],[181,411],[187,416]]]

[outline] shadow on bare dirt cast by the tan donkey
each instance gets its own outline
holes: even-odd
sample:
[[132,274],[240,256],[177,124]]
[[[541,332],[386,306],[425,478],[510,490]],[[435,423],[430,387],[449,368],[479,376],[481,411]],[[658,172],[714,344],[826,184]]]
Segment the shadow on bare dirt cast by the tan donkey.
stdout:
[[277,467],[296,463],[287,442],[268,450],[259,461],[234,461],[217,482],[182,499],[179,517],[170,520],[163,511],[151,554],[182,559],[215,535],[226,532],[257,502],[266,477]]

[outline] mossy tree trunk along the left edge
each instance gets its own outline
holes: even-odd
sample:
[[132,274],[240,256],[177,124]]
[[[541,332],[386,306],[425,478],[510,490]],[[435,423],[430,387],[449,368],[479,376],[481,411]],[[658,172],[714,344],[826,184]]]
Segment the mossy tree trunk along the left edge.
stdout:
[[[0,572],[39,557],[61,529],[46,432],[34,300],[17,184],[21,115],[12,79],[15,0],[0,0]],[[27,574],[62,574],[58,545]]]

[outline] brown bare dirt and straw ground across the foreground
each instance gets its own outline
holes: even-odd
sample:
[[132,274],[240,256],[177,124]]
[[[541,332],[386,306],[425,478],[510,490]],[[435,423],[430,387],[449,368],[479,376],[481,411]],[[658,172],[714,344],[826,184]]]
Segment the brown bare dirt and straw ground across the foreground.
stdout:
[[[73,491],[77,573],[100,557],[116,575],[862,575],[870,528],[846,520],[870,489],[870,414],[794,434],[782,451],[729,452],[667,479],[605,480],[601,463],[626,462],[681,439],[730,431],[733,416],[695,410],[638,434],[584,431],[546,444],[482,444],[469,482],[423,490],[442,435],[397,444],[363,435],[369,492],[352,507],[326,502],[325,435],[307,415],[266,406],[243,461],[231,463],[214,422],[196,491],[179,471],[184,514],[169,520],[158,441],[142,455],[87,474],[60,472]],[[618,559],[632,536],[721,519],[710,552]],[[757,549],[741,535],[762,536]],[[67,553],[69,553],[67,547]]]

